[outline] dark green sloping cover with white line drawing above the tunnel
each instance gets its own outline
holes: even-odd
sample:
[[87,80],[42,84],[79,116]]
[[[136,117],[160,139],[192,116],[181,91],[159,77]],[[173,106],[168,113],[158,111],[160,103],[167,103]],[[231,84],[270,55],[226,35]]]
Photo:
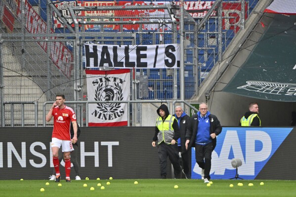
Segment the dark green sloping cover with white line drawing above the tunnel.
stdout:
[[296,15],[276,14],[262,39],[222,91],[296,102]]

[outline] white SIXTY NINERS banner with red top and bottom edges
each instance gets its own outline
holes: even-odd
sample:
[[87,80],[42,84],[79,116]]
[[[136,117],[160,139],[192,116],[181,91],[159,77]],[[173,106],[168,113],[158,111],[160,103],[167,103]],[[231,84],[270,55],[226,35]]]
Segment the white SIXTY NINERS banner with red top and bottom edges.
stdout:
[[88,104],[88,126],[127,126],[127,101],[130,93],[130,70],[85,70],[87,100],[105,101]]

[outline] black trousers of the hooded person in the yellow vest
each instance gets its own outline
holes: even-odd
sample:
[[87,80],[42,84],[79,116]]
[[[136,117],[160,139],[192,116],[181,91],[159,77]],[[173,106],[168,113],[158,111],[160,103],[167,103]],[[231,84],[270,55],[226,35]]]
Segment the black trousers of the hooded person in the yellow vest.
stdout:
[[178,145],[171,145],[162,142],[157,147],[161,177],[166,178],[167,176],[167,158],[169,156],[169,160],[174,168],[175,178],[180,178],[182,169],[179,163]]

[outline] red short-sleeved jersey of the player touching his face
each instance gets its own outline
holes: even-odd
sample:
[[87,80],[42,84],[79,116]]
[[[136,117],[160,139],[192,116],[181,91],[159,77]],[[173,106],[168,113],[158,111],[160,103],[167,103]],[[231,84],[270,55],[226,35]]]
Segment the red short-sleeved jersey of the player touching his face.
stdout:
[[65,106],[60,110],[58,106],[53,108],[52,116],[54,121],[52,138],[60,140],[71,140],[70,124],[71,121],[76,121],[76,115],[72,108]]

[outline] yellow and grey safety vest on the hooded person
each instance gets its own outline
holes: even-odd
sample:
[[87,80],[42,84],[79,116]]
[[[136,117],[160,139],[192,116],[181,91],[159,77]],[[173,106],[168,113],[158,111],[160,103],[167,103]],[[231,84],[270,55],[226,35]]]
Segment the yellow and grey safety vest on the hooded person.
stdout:
[[174,121],[175,117],[169,115],[165,121],[161,117],[157,118],[156,126],[159,130],[157,134],[158,138],[158,144],[162,143],[163,141],[166,144],[170,144],[173,136],[174,136],[174,130],[172,128],[172,123]]

